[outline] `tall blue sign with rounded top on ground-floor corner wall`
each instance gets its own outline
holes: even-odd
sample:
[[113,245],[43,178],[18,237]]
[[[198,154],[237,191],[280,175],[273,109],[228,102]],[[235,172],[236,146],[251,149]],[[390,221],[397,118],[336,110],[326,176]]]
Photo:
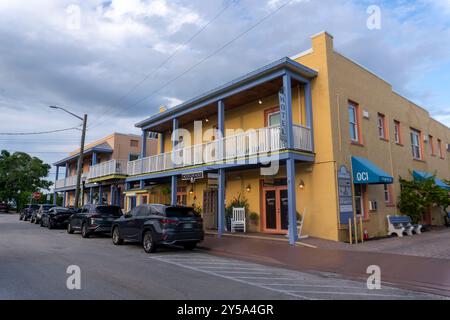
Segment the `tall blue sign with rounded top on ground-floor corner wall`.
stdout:
[[346,166],[341,166],[339,169],[338,186],[340,223],[347,225],[349,219],[353,220],[353,193],[352,175]]

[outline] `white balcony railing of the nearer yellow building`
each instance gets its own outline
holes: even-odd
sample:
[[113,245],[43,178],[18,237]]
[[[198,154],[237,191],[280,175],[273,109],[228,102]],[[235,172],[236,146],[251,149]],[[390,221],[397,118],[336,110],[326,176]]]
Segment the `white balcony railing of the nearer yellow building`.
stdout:
[[[312,152],[311,129],[294,125],[294,148]],[[220,146],[223,152],[220,152]],[[280,127],[268,127],[227,136],[213,142],[176,149],[144,159],[128,162],[130,176],[154,173],[193,165],[239,160],[286,149],[280,140]]]

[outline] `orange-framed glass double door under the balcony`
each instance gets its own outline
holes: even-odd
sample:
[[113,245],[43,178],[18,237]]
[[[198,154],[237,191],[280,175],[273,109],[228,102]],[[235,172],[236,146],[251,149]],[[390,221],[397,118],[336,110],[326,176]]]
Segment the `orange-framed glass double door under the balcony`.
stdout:
[[287,234],[288,191],[286,186],[263,188],[263,231],[267,233]]

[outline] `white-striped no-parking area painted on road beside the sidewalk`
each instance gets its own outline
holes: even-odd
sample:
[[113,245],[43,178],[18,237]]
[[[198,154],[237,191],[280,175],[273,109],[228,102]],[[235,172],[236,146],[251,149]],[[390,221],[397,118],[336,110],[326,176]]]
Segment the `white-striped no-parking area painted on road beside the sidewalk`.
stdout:
[[152,259],[221,277],[253,287],[285,294],[297,299],[417,299],[429,295],[383,286],[371,292],[365,282],[345,280],[326,274],[307,274],[277,267],[247,263],[232,258],[217,258],[205,254],[168,254],[151,256]]

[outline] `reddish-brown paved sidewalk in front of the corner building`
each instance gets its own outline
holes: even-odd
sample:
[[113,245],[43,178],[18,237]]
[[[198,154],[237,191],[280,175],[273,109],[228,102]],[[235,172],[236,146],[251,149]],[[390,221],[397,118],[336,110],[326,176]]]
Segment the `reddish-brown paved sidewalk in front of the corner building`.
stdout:
[[207,235],[201,249],[211,254],[309,272],[367,279],[367,267],[381,268],[382,281],[450,297],[450,260],[380,252],[291,247],[285,241]]

